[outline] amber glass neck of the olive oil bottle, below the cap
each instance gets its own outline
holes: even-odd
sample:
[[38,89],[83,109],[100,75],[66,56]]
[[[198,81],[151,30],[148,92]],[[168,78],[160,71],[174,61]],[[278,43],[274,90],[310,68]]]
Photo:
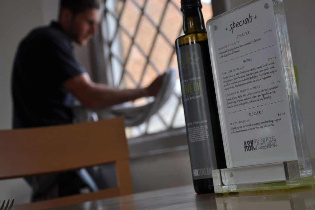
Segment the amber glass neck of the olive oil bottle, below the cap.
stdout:
[[187,7],[183,11],[184,33],[206,31],[201,8],[198,6]]

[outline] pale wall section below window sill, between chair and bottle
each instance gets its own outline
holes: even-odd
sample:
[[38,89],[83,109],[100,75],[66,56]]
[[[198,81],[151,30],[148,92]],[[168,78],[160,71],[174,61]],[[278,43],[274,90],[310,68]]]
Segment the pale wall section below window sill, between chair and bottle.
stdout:
[[134,192],[192,184],[188,150],[130,160]]

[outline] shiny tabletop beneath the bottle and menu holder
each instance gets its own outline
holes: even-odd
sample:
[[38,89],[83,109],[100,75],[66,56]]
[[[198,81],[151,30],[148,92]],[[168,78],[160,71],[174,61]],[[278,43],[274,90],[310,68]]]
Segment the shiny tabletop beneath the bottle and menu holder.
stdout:
[[315,209],[315,187],[291,190],[268,190],[222,194],[197,195],[193,186],[181,186],[163,190],[137,193],[51,210],[147,210],[147,209],[219,209],[219,210],[272,210]]

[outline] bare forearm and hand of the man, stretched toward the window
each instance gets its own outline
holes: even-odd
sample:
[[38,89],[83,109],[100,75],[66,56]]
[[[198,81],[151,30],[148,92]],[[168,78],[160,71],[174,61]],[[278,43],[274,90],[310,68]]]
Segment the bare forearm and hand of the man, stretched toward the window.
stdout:
[[139,89],[117,89],[93,82],[87,73],[80,74],[63,82],[83,106],[101,108],[135,100],[146,96],[155,96],[161,88],[163,76],[157,77],[151,85]]

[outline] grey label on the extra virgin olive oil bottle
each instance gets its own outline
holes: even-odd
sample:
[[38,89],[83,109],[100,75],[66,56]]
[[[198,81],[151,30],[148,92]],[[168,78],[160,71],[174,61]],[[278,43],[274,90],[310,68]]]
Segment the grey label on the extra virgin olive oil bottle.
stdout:
[[[198,43],[177,49],[193,179],[212,178],[217,168],[202,51]],[[206,71],[211,71],[211,69]]]

